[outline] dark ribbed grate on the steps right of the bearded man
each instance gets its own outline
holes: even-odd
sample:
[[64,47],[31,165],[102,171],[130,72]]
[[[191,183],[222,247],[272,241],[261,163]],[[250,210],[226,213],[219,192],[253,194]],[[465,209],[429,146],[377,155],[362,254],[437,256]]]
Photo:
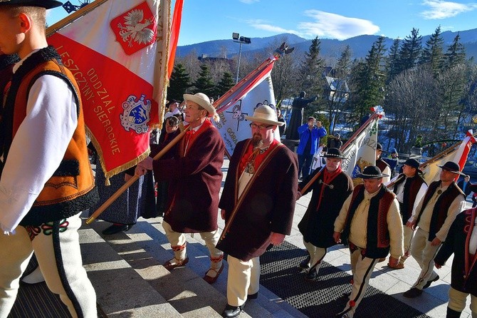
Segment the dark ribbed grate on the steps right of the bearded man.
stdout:
[[[347,302],[351,292],[351,276],[323,262],[320,277],[305,279],[298,265],[307,252],[289,242],[283,242],[260,257],[261,284],[308,317],[335,317]],[[383,309],[385,308],[385,309]],[[369,286],[355,318],[429,318],[404,302]]]

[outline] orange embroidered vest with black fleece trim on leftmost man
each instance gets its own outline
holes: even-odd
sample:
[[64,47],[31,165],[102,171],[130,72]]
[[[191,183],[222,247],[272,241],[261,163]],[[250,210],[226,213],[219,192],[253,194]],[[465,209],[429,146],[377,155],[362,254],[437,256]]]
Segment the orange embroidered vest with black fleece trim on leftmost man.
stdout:
[[61,57],[51,46],[42,48],[29,56],[12,78],[5,104],[4,159],[7,160],[11,140],[26,117],[26,105],[31,85],[38,77],[46,74],[63,79],[73,91],[77,105],[78,126],[68,144],[61,164],[45,183],[43,190],[33,203],[33,207],[21,221],[21,225],[41,225],[43,222],[62,220],[88,209],[98,201],[98,192],[94,185],[93,172],[86,148],[85,121],[78,84],[73,74],[63,66]]

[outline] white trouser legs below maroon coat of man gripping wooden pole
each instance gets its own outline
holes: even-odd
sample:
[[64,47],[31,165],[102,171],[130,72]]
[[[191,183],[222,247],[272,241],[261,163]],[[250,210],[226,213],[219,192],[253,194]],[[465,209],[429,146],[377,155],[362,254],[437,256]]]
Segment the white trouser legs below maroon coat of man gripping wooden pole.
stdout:
[[[162,227],[166,232],[167,240],[171,243],[172,249],[174,250],[174,258],[176,260],[184,260],[187,257],[187,244],[186,244],[186,235],[184,233],[174,232],[171,225],[167,222],[162,222]],[[219,229],[213,232],[201,232],[199,233],[202,237],[202,240],[205,241],[206,247],[209,249],[210,258],[211,258],[211,268],[214,270],[219,270],[222,266],[221,257],[223,257],[224,252],[218,250],[215,246],[219,242]],[[181,247],[177,249],[177,247]],[[219,260],[220,261],[217,261]]]

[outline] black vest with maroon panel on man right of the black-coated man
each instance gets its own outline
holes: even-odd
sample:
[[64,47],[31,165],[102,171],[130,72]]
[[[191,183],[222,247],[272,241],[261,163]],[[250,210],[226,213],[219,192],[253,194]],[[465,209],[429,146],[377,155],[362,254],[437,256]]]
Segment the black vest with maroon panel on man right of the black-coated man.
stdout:
[[[343,230],[341,239],[347,244],[350,236],[351,221],[358,205],[365,198],[365,186],[357,185],[352,193],[350,209],[347,212],[345,230]],[[367,216],[367,235],[365,256],[369,258],[386,257],[389,253],[389,230],[387,228],[387,213],[394,200],[394,193],[387,190],[382,185],[377,195],[374,195],[369,202]]]

